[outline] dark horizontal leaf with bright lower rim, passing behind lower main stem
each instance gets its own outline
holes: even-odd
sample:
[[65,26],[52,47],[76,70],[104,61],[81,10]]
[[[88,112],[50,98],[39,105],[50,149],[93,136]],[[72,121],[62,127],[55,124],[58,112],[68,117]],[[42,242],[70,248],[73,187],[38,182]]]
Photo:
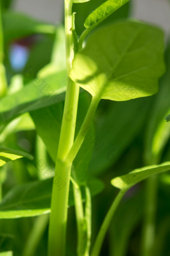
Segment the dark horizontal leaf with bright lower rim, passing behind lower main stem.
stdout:
[[[57,182],[58,188],[64,186],[64,183],[60,180]],[[91,178],[87,184],[91,196],[96,195],[103,189],[103,183],[98,179]],[[51,191],[52,178],[15,186],[0,202],[0,219],[31,217],[49,212]],[[84,200],[85,195],[83,195],[82,198]],[[73,204],[73,192],[70,188],[69,205]]]

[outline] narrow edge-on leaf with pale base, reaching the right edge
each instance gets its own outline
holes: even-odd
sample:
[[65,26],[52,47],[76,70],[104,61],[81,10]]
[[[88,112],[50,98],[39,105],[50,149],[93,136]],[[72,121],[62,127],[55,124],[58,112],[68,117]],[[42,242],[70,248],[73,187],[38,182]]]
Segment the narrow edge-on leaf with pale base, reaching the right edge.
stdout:
[[128,189],[152,175],[169,170],[170,162],[165,162],[159,165],[145,166],[139,169],[135,169],[125,175],[113,178],[111,180],[111,184],[119,189]]

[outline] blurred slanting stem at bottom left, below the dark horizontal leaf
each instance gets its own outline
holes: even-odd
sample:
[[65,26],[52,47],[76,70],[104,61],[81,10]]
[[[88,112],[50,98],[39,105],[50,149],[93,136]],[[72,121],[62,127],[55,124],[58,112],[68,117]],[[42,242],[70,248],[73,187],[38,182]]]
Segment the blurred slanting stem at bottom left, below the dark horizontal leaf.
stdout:
[[38,216],[29,233],[28,239],[24,245],[22,256],[33,256],[39,241],[45,231],[49,219],[48,214]]

